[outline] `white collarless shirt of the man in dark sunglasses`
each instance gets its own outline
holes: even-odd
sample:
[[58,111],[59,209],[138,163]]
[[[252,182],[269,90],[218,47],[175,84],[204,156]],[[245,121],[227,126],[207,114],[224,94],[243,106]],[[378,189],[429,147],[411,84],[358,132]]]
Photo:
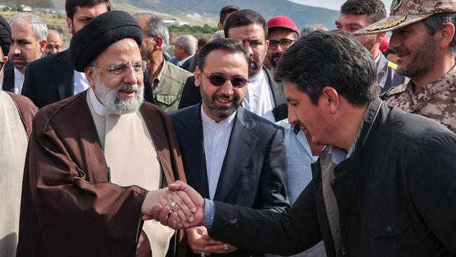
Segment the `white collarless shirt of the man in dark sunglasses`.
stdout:
[[227,152],[229,138],[232,133],[236,112],[227,119],[216,123],[210,119],[201,105],[201,121],[203,122],[204,153],[206,155],[206,171],[208,175],[209,197],[214,199],[218,178],[222,171],[224,155]]

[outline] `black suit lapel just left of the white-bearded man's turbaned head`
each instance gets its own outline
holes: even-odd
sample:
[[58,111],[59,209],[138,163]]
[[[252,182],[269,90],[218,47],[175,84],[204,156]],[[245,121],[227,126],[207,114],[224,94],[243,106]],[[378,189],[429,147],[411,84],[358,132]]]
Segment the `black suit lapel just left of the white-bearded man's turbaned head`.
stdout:
[[74,95],[74,70],[69,66],[68,51],[62,52],[55,60],[55,86],[62,100]]

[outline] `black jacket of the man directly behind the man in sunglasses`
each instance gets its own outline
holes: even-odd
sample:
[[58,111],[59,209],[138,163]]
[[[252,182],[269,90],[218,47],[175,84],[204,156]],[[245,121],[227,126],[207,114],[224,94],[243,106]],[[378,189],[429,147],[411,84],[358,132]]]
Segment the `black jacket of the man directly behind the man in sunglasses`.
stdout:
[[[283,83],[278,82],[274,79],[274,74],[263,66],[263,70],[266,73],[267,79],[269,81],[269,86],[271,86],[272,95],[274,97],[274,117],[276,121],[286,119],[288,116],[288,107],[285,99],[285,94],[283,93]],[[179,109],[188,107],[190,105],[196,105],[201,101],[201,93],[199,88],[195,86],[195,77],[189,77],[185,82],[184,89],[182,90],[182,96],[179,103]]]

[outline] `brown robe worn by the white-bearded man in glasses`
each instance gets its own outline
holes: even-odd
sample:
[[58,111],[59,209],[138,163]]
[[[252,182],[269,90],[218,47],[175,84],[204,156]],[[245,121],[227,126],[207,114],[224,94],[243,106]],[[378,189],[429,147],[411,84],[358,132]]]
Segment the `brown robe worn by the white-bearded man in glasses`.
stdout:
[[[17,256],[135,256],[147,190],[109,182],[86,93],[36,114],[25,162]],[[185,181],[168,115],[149,103],[140,113],[167,182]],[[181,255],[174,246],[168,253]]]

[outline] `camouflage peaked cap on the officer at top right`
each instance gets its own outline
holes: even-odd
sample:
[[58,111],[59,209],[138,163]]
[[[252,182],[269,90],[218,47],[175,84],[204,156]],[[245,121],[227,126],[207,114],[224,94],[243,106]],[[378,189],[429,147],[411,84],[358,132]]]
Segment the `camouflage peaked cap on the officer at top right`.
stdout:
[[456,12],[456,0],[393,0],[389,17],[358,29],[354,35],[378,34],[424,20],[434,13]]

